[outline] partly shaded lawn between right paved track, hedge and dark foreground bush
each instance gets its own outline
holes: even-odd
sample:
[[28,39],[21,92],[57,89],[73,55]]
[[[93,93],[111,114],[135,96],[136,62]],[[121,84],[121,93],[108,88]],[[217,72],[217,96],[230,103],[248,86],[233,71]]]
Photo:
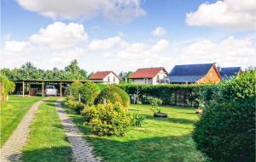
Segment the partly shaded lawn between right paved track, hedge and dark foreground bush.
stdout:
[[97,137],[83,125],[80,115],[67,109],[73,121],[105,161],[204,161],[191,138],[195,109],[162,107],[168,119],[155,119],[148,105],[131,105],[130,112],[147,115],[142,127],[133,127],[125,137]]

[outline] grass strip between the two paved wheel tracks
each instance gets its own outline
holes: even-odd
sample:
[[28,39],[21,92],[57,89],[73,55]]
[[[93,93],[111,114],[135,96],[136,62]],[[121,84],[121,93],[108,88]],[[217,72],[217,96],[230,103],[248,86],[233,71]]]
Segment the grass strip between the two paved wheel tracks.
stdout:
[[22,150],[22,161],[72,161],[72,150],[57,115],[55,100],[49,98],[39,106],[30,137]]

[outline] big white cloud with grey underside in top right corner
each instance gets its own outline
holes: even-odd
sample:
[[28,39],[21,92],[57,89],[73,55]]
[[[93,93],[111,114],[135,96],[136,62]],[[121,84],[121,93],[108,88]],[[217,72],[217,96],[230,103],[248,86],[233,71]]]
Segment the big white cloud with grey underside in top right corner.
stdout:
[[256,28],[255,6],[255,0],[202,3],[197,11],[186,14],[186,23],[234,30],[253,30]]

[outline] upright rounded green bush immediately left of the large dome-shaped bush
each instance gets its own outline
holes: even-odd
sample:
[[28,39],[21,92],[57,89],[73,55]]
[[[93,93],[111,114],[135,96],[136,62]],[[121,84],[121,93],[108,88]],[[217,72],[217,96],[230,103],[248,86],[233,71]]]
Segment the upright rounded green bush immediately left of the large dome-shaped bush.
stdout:
[[85,82],[79,89],[81,95],[81,102],[86,105],[93,105],[96,96],[100,90],[94,82]]

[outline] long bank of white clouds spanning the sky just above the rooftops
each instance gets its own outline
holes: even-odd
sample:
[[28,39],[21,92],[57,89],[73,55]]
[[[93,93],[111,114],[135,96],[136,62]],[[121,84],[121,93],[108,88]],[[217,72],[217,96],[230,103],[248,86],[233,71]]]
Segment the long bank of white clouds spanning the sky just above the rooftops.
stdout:
[[[49,27],[50,26],[50,27]],[[56,26],[56,31],[53,26]],[[61,26],[61,27],[60,27]],[[28,41],[5,41],[0,53],[0,68],[20,67],[27,61],[42,69],[63,68],[78,59],[84,70],[127,71],[142,67],[217,62],[222,66],[255,65],[255,36],[229,36],[220,42],[192,39],[192,42],[127,42],[112,36],[85,42],[83,25],[48,25],[28,37]],[[57,32],[57,34],[56,34]],[[68,40],[67,40],[68,39]],[[72,40],[69,40],[72,39]],[[66,42],[67,41],[67,42]]]

